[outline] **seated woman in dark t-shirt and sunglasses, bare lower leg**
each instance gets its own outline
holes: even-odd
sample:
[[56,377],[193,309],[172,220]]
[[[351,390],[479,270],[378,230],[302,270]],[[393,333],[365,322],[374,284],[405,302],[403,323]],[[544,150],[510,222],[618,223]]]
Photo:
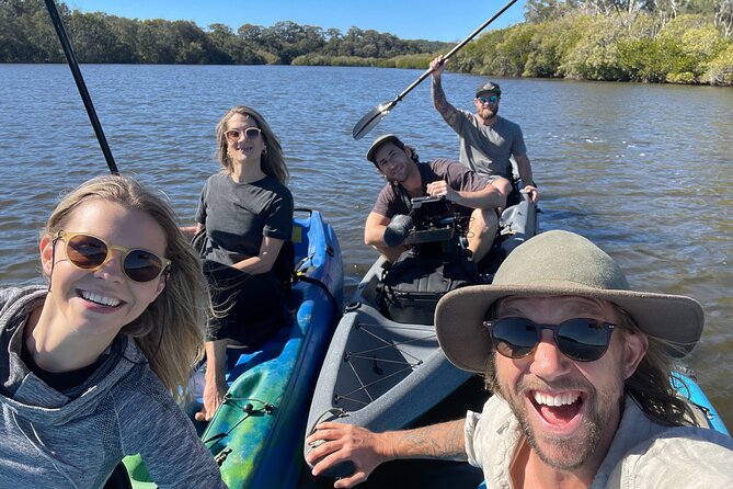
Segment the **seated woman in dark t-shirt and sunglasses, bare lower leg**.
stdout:
[[238,105],[217,127],[222,171],[204,184],[196,227],[214,303],[206,333],[204,406],[208,421],[227,393],[227,345],[259,346],[283,327],[294,268],[293,195],[277,136],[255,110]]

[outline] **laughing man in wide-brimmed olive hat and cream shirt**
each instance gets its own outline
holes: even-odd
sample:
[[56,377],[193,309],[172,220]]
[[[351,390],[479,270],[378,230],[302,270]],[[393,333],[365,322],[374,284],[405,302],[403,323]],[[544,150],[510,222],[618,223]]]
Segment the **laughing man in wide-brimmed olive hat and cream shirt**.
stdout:
[[491,285],[447,294],[438,340],[456,366],[485,375],[482,413],[371,433],[322,423],[308,455],[318,475],[351,459],[363,481],[394,458],[468,460],[486,487],[733,487],[733,440],[697,428],[671,369],[703,327],[701,306],[634,292],[587,239],[541,234],[514,250]]

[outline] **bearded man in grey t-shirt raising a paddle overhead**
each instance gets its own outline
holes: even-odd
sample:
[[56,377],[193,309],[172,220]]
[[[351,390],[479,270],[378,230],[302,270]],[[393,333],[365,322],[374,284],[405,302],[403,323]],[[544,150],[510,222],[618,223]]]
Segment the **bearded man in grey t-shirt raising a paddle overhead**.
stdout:
[[496,184],[508,195],[512,190],[512,161],[517,163],[523,192],[537,203],[539,192],[532,178],[522,128],[499,115],[502,90],[492,81],[482,82],[476,89],[476,114],[459,111],[446,99],[442,76],[447,61],[438,56],[431,61],[433,70],[433,105],[460,139],[460,162],[482,175],[495,179]]

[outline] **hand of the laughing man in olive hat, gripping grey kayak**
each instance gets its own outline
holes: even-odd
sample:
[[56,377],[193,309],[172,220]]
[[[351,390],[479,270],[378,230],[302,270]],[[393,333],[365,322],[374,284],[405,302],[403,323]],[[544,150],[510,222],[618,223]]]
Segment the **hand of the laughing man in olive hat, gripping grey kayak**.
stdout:
[[350,488],[364,482],[379,464],[390,459],[387,439],[386,433],[373,433],[352,424],[320,423],[316,432],[306,439],[306,443],[314,446],[306,456],[306,462],[313,467],[312,474],[318,476],[351,460],[356,471],[333,485],[334,488]]

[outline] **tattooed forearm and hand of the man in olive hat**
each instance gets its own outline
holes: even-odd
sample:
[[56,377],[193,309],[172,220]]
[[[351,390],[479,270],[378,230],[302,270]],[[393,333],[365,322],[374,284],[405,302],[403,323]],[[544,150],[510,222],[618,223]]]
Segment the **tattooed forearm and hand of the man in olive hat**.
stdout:
[[351,460],[356,471],[336,481],[336,488],[363,482],[381,463],[398,458],[467,460],[463,420],[449,421],[406,431],[373,433],[344,423],[321,423],[306,439],[312,444],[323,441],[306,457],[317,476],[337,464]]

